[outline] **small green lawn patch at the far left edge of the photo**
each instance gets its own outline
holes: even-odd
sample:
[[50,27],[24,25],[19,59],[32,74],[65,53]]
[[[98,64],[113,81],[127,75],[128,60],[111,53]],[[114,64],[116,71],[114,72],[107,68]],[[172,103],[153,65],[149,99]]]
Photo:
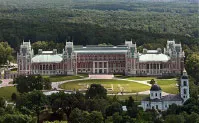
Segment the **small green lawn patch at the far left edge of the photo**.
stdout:
[[16,87],[0,88],[0,97],[4,97],[7,100],[11,100],[12,93],[18,94]]

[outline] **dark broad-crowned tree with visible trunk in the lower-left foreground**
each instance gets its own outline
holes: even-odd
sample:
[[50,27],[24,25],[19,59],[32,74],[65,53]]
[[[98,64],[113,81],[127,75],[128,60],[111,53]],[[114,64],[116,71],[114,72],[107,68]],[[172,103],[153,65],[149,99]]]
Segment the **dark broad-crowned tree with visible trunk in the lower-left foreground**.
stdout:
[[28,109],[33,111],[37,116],[37,122],[39,123],[40,112],[48,104],[47,97],[40,91],[32,91],[30,93],[24,93],[16,102],[16,107],[23,111],[23,109]]

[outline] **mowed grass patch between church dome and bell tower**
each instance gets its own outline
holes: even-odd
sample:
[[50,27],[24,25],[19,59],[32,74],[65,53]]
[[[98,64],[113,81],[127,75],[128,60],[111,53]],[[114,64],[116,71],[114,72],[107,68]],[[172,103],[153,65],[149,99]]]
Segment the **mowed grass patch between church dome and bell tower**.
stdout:
[[156,83],[161,87],[162,91],[177,94],[179,93],[178,87],[176,84],[178,83],[177,80],[161,80],[157,79]]

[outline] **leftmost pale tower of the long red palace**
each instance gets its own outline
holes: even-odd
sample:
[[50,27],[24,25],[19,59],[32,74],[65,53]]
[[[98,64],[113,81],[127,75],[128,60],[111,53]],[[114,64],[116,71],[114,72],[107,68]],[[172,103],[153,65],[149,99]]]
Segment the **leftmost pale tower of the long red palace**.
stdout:
[[31,74],[31,59],[33,57],[33,49],[30,41],[24,42],[20,46],[20,51],[17,53],[18,73]]

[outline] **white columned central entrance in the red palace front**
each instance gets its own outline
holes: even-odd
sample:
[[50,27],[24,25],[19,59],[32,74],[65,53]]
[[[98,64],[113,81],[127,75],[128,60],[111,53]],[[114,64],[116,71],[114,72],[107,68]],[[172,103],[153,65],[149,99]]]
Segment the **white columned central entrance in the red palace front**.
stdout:
[[108,61],[93,61],[93,74],[108,74]]

